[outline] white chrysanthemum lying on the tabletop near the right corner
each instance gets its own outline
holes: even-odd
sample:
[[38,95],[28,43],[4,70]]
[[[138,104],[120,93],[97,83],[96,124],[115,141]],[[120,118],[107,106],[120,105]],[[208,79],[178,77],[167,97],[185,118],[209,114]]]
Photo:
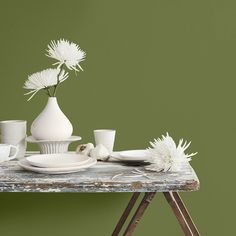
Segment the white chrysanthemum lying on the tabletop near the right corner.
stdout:
[[168,133],[166,136],[162,135],[162,138],[150,142],[150,144],[151,147],[148,150],[151,156],[150,161],[153,163],[150,169],[154,167],[162,171],[178,171],[180,163],[190,161],[191,157],[197,154],[185,154],[184,152],[190,146],[191,142],[184,142],[181,139],[178,146],[176,146],[173,138]]

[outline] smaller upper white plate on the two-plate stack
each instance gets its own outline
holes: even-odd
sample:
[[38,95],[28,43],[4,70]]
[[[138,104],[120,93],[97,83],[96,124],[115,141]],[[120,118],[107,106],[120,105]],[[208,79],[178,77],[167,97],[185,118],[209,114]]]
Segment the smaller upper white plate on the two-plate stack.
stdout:
[[81,154],[60,153],[33,155],[26,157],[26,160],[32,166],[57,168],[83,165],[89,161],[89,157]]

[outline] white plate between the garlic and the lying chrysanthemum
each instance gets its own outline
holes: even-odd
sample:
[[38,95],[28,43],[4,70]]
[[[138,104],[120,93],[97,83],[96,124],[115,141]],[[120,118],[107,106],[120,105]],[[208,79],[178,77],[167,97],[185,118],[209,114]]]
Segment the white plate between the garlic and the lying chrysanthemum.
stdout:
[[149,161],[149,154],[147,150],[128,150],[121,152],[113,152],[111,157],[118,159],[120,161],[127,162],[143,162]]

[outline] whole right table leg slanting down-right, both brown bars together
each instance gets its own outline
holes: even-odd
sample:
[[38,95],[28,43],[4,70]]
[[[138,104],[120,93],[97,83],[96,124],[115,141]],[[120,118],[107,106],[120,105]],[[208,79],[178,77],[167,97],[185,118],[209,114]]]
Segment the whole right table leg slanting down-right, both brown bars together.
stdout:
[[[180,196],[176,193],[172,192],[164,192],[163,193],[170,207],[172,208],[179,224],[184,231],[186,236],[199,236],[195,225],[193,224],[190,215],[188,214],[187,209],[185,208]],[[192,225],[191,225],[192,222]],[[190,226],[191,225],[191,226]],[[195,231],[191,228],[194,228]]]

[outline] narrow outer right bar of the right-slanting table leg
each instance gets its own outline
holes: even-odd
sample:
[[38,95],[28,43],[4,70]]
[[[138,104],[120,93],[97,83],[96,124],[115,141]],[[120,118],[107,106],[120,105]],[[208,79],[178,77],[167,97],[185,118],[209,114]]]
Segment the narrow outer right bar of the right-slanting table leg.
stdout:
[[180,195],[178,192],[173,192],[173,197],[175,198],[175,201],[177,202],[180,210],[182,211],[182,214],[185,217],[185,220],[187,221],[193,235],[195,236],[200,236],[200,233],[198,232],[198,229],[196,227],[196,225],[194,224],[186,206],[184,205],[184,202],[182,201]]

